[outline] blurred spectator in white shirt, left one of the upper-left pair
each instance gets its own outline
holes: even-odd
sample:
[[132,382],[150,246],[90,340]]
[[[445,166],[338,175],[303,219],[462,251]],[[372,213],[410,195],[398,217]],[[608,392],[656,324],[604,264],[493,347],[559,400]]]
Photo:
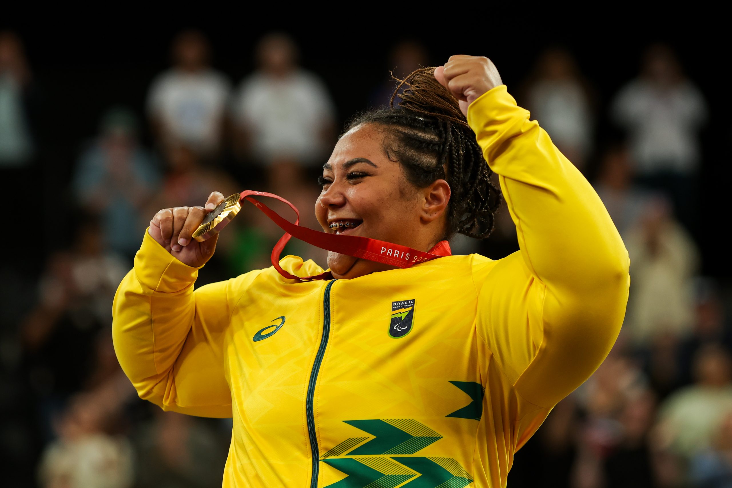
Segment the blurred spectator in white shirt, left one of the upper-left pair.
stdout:
[[164,146],[184,143],[201,155],[214,155],[231,85],[209,66],[209,43],[201,32],[182,32],[172,51],[173,67],[153,80],[148,94],[153,132]]

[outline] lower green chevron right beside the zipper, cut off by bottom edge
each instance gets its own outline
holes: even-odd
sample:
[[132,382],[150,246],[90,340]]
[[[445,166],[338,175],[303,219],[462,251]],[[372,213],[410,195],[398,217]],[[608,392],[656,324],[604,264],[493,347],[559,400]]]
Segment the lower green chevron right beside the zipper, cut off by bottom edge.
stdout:
[[394,488],[416,476],[388,457],[360,457],[324,459],[326,464],[348,476],[328,488]]

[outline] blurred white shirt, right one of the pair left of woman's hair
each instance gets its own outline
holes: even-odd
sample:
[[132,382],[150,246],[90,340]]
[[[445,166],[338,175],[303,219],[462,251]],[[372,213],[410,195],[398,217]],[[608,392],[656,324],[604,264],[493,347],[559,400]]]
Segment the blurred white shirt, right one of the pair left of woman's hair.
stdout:
[[253,132],[255,157],[265,164],[281,158],[307,164],[321,157],[321,130],[335,119],[324,83],[302,70],[286,78],[255,72],[242,81],[232,110]]

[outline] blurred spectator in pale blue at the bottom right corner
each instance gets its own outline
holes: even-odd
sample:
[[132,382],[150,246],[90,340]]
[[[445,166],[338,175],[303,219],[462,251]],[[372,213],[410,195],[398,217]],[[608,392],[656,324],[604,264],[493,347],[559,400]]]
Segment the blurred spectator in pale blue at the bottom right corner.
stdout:
[[732,488],[732,410],[714,435],[712,449],[694,458],[690,479],[698,488]]

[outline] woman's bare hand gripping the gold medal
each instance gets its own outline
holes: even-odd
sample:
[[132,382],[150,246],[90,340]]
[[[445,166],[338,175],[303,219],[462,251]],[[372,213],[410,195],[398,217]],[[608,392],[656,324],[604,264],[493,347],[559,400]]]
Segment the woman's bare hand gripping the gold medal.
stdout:
[[150,236],[182,263],[194,268],[203,266],[214,255],[218,234],[198,242],[193,239],[193,232],[201,225],[206,214],[223,200],[224,195],[213,192],[209,195],[205,208],[195,206],[162,209],[150,221]]

